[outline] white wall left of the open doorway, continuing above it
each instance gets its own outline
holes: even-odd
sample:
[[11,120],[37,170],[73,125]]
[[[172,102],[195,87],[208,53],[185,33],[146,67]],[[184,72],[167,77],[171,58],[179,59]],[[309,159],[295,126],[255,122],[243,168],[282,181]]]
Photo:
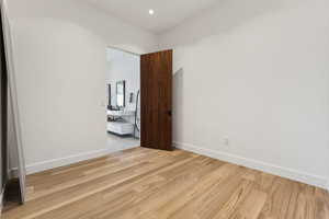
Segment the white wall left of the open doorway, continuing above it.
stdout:
[[27,172],[106,152],[105,48],[152,51],[156,37],[78,0],[10,0],[9,12]]

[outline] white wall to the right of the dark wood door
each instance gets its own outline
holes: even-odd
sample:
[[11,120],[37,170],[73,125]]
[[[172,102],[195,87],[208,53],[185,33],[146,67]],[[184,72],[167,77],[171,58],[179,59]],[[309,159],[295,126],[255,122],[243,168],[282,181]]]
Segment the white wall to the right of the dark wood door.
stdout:
[[161,48],[174,48],[177,143],[325,187],[328,9],[223,0],[163,35]]

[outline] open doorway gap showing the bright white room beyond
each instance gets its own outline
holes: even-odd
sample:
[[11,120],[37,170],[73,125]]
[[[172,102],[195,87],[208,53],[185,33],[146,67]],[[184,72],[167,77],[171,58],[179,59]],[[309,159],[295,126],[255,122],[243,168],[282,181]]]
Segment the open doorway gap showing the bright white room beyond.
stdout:
[[106,147],[140,146],[140,56],[106,48]]

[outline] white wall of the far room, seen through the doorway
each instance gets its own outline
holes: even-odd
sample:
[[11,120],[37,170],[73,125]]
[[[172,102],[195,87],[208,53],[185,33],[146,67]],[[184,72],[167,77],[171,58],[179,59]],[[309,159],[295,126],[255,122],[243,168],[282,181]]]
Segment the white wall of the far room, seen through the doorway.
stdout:
[[[116,82],[126,81],[126,110],[135,111],[136,95],[140,87],[140,57],[117,49],[106,49],[106,84],[111,84],[111,102],[116,105]],[[134,93],[133,103],[129,103]]]

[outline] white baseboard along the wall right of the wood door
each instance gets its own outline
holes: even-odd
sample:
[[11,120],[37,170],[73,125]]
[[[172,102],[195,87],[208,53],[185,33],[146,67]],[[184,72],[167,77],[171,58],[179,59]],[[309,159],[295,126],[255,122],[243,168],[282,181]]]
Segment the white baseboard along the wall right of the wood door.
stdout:
[[293,181],[298,181],[302,183],[306,183],[309,185],[329,189],[329,183],[328,183],[329,181],[328,181],[328,178],[322,177],[322,176],[299,172],[299,171],[292,170],[288,168],[277,166],[277,165],[274,165],[271,163],[265,163],[265,162],[257,161],[253,159],[242,158],[242,157],[235,155],[235,154],[227,153],[227,152],[222,152],[222,151],[212,150],[212,149],[205,149],[205,148],[201,148],[201,147],[193,146],[190,143],[173,142],[173,145],[174,145],[174,147],[177,147],[179,149],[192,151],[192,152],[207,155],[207,157],[211,157],[214,159],[223,160],[226,162],[247,166],[247,168],[254,169],[258,171],[263,171],[265,173],[271,173],[274,175],[286,177],[286,178],[290,178]]

